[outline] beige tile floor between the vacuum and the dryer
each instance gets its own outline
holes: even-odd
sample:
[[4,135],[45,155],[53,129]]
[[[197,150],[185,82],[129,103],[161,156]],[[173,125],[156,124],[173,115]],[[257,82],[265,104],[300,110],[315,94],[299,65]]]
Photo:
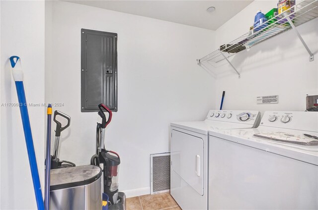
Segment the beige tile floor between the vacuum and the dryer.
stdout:
[[126,210],[181,210],[181,208],[170,193],[160,193],[127,198]]

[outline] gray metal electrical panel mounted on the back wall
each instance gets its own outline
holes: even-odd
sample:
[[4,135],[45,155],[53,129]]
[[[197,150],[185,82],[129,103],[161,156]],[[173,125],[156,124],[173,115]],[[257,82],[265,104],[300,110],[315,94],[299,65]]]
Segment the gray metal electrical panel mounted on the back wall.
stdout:
[[117,34],[81,29],[81,112],[117,111]]

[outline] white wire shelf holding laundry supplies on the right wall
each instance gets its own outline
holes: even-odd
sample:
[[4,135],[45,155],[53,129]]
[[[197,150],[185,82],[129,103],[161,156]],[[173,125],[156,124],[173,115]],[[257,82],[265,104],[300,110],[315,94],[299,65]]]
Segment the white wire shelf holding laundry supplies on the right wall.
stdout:
[[[253,30],[243,34],[229,44],[223,45],[220,49],[202,57],[198,60],[198,64],[202,62],[218,63],[240,51],[291,29],[293,25],[299,26],[316,17],[318,17],[318,0],[303,0]],[[292,24],[290,24],[289,21],[291,21]]]

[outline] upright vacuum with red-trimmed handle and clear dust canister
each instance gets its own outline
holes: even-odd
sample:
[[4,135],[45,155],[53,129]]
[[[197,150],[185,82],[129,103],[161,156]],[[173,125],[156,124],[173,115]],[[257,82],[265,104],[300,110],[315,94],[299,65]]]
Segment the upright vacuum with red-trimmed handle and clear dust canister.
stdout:
[[[97,123],[96,128],[96,154],[90,159],[92,165],[98,165],[103,170],[103,192],[109,197],[111,205],[120,202],[118,199],[118,170],[120,157],[117,153],[105,150],[105,128],[110,123],[112,112],[105,105],[98,105],[98,115],[102,118],[101,123]],[[108,120],[102,110],[108,112]]]

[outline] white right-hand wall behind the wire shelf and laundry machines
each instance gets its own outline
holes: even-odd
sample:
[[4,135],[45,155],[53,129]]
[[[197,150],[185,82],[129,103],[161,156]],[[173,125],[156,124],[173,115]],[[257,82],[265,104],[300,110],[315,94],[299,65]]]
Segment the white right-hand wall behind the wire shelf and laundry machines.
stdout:
[[[277,1],[253,1],[216,31],[216,46],[229,43],[249,30],[258,9],[266,13],[276,7]],[[288,31],[240,52],[233,64],[241,78],[229,64],[213,71],[218,74],[216,105],[222,91],[226,91],[224,109],[297,110],[306,109],[306,94],[318,94],[318,20],[297,27],[315,54],[309,54],[294,33]],[[257,105],[257,96],[279,95],[279,103]]]

